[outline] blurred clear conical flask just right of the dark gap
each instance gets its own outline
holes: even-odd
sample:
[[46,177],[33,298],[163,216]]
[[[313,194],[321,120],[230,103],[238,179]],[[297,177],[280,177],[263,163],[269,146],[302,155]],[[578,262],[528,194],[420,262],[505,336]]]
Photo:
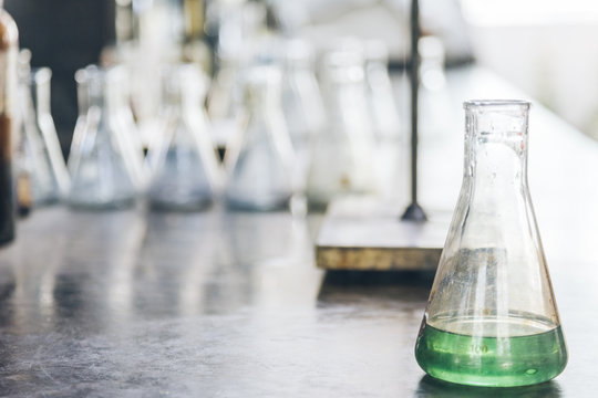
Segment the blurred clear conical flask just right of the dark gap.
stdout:
[[84,74],[78,75],[85,80],[89,109],[85,128],[73,138],[69,156],[69,203],[74,208],[130,207],[141,187],[136,180],[138,168],[134,166],[137,159],[131,156],[127,132],[123,130],[116,107],[120,74],[112,71],[87,66]]

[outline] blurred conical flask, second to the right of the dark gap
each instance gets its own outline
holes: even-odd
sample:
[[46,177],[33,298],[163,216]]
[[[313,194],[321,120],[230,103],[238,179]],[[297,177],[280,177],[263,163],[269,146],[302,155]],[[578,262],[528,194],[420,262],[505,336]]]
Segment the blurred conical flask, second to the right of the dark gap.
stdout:
[[192,64],[163,73],[162,128],[150,148],[150,205],[158,209],[200,210],[217,188],[218,161],[208,136],[203,104],[207,77]]

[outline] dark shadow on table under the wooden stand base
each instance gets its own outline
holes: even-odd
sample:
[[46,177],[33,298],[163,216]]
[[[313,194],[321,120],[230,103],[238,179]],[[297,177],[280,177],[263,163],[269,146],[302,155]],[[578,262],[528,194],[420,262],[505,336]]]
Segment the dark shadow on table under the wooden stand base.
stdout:
[[425,303],[434,271],[327,271],[318,302],[344,303],[367,298],[391,298]]

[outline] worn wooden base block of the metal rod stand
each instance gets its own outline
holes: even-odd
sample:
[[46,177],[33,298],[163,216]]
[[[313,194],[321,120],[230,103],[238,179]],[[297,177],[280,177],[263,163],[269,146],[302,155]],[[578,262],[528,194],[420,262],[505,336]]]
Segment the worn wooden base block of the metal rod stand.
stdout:
[[401,221],[404,205],[372,197],[334,200],[316,243],[326,270],[435,270],[452,211],[430,211],[425,223]]

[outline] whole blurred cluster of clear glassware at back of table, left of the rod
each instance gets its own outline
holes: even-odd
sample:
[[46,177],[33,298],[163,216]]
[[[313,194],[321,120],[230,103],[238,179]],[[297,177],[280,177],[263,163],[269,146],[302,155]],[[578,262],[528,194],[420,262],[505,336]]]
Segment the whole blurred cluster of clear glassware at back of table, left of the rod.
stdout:
[[377,153],[401,129],[385,45],[350,39],[316,51],[274,34],[264,4],[245,1],[210,3],[206,20],[147,28],[196,3],[118,4],[115,51],[74,76],[79,117],[66,165],[50,116],[51,71],[31,71],[31,54],[21,54],[23,213],[56,201],[269,211],[297,197],[326,209],[336,196],[378,191]]

